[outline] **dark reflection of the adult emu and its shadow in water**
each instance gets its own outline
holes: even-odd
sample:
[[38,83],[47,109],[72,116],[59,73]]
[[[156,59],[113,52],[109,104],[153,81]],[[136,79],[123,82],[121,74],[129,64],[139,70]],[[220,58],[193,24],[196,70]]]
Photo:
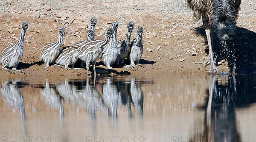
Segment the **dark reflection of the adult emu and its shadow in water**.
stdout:
[[190,142],[241,142],[236,109],[256,102],[254,83],[250,77],[244,80],[244,76],[209,75],[204,130]]

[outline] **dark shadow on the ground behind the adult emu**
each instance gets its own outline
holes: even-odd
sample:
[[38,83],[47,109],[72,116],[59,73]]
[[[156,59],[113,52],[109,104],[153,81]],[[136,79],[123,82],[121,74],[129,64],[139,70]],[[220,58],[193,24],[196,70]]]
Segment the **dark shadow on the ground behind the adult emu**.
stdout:
[[[195,34],[204,36],[207,45],[206,33],[204,27],[194,29]],[[226,59],[230,70],[233,69],[233,63],[236,63],[236,73],[255,73],[256,70],[256,33],[246,28],[237,27],[236,35],[227,48],[221,44],[218,37],[214,36],[213,50],[217,55],[217,60]],[[208,49],[205,49],[208,54]]]

